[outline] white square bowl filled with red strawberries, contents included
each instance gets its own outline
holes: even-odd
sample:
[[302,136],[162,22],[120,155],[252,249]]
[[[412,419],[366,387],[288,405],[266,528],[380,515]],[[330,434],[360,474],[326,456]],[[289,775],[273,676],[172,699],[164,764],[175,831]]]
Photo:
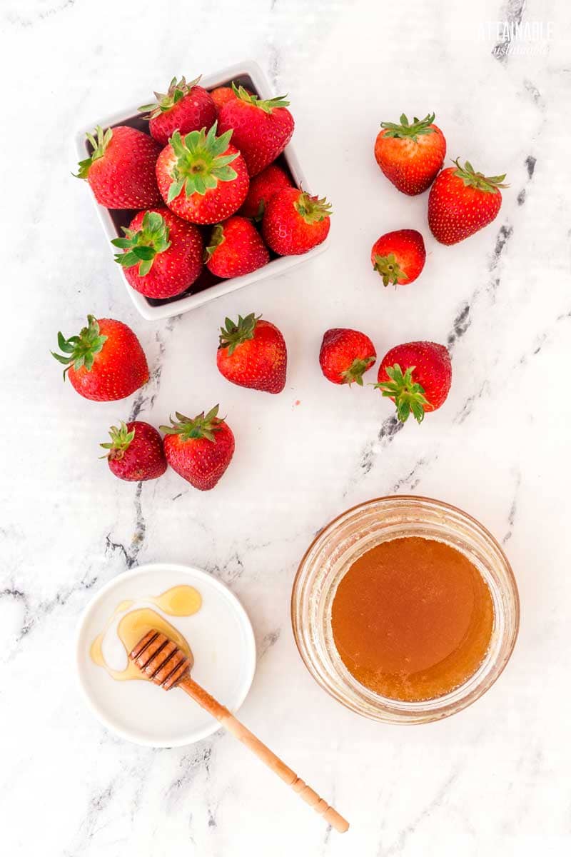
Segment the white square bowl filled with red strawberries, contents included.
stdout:
[[140,315],[179,315],[326,248],[330,204],[312,195],[289,102],[256,63],[173,78],[155,98],[76,136],[76,175]]

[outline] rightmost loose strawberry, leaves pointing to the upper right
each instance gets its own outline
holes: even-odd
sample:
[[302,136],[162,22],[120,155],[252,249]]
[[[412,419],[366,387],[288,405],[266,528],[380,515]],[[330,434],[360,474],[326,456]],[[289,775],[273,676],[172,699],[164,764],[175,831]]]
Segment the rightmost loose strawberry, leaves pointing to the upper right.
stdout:
[[483,229],[502,205],[503,176],[486,178],[469,161],[458,159],[437,177],[428,197],[428,225],[441,244],[456,244]]

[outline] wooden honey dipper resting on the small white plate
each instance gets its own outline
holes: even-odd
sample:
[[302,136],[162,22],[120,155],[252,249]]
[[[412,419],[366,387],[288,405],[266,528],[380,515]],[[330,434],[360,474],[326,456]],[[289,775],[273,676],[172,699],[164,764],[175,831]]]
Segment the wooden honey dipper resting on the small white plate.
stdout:
[[342,815],[320,798],[317,792],[309,788],[303,780],[300,780],[300,777],[288,768],[281,758],[271,752],[271,749],[256,738],[233,714],[230,714],[227,708],[211,697],[204,687],[197,685],[196,681],[191,679],[192,662],[166,634],[154,630],[147,632],[129,653],[129,658],[149,680],[163,687],[165,691],[170,691],[172,687],[180,687],[209,714],[216,717],[225,729],[245,744],[248,750],[255,753],[283,782],[291,786],[294,792],[299,794],[300,798],[305,800],[315,812],[322,815],[331,827],[339,830],[340,833],[348,830],[349,824]]

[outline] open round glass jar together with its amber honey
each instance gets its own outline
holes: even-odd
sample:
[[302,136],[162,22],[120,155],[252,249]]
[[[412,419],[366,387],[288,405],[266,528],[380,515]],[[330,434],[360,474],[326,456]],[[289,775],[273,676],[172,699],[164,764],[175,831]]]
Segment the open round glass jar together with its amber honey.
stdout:
[[497,541],[454,506],[369,500],[321,530],[292,592],[300,655],[324,689],[385,722],[428,722],[502,672],[520,618]]

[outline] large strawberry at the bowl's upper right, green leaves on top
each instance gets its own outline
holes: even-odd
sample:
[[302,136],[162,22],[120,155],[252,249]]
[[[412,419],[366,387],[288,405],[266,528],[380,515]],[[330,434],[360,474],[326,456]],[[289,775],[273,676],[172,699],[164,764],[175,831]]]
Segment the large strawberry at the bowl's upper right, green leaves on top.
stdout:
[[223,105],[218,124],[222,132],[234,130],[232,141],[240,149],[250,176],[256,176],[288,145],[294,133],[294,117],[283,96],[262,100],[234,83],[232,89],[236,98]]

